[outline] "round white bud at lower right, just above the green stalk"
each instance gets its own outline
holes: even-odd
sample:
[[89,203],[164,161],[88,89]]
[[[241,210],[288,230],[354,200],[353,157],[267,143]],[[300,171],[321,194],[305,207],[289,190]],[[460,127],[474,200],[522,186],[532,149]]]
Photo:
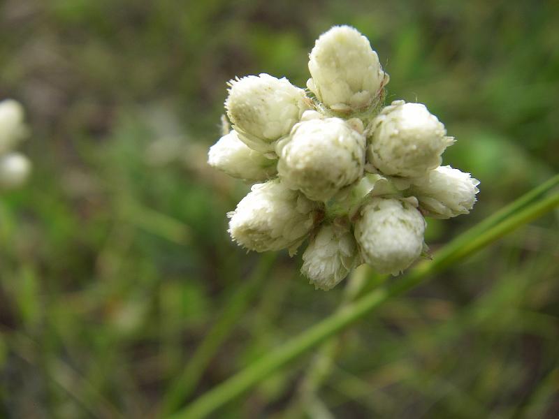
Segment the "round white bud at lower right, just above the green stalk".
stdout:
[[379,273],[398,274],[423,249],[425,219],[408,200],[372,198],[355,223],[361,258]]

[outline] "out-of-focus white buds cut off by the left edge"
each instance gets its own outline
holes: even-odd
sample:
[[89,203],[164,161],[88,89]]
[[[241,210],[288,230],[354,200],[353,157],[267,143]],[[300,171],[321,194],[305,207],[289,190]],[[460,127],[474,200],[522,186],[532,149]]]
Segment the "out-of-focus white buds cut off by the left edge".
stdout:
[[29,177],[31,163],[13,149],[27,137],[24,112],[13,99],[0,102],[0,189],[21,186]]

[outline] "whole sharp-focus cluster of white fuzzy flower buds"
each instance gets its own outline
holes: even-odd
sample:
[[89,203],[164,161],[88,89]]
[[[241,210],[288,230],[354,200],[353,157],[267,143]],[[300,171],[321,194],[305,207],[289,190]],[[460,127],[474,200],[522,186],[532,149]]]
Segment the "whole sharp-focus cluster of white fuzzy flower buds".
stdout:
[[424,216],[467,214],[479,182],[440,166],[454,140],[425,105],[382,108],[389,76],[356,29],[321,35],[309,70],[306,93],[268,74],[229,84],[233,131],[208,161],[258,182],[228,213],[229,233],[290,254],[308,239],[302,272],[325,290],[360,263],[398,274],[426,249]]

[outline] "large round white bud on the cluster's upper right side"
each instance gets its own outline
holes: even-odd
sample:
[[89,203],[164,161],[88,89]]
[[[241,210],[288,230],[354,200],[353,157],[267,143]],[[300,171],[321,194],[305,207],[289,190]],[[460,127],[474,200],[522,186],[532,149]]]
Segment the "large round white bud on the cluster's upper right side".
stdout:
[[454,140],[421,103],[394,101],[372,122],[368,160],[384,175],[419,177],[441,163]]

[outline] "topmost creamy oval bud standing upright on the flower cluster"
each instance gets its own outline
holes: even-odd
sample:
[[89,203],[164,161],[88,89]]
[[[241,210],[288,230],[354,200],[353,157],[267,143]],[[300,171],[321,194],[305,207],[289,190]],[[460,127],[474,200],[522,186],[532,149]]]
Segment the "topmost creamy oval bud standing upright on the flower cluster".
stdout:
[[347,26],[322,34],[310,53],[307,87],[340,112],[375,105],[389,77],[365,36]]

